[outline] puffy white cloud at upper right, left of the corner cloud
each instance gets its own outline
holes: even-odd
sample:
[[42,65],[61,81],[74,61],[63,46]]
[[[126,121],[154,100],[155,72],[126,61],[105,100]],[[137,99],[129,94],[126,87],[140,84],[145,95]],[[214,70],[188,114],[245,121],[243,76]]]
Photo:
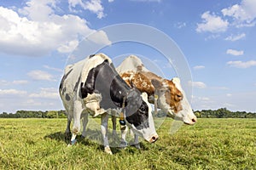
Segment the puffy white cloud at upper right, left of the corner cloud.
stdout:
[[221,17],[215,14],[210,14],[209,11],[201,15],[202,23],[197,24],[196,31],[210,31],[212,33],[223,32],[228,29],[229,22],[227,20],[222,20]]

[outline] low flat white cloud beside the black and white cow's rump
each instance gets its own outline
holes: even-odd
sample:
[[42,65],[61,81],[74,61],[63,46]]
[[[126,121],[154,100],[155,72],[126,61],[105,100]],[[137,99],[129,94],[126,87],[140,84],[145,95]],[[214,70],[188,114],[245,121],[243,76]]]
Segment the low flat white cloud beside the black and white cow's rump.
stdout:
[[60,95],[56,88],[41,88],[39,93],[29,94],[30,98],[59,99]]

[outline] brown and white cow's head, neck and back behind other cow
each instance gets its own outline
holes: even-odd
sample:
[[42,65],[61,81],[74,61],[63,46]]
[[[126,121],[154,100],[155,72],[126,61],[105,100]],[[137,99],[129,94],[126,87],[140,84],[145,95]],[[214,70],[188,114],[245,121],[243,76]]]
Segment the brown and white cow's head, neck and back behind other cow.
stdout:
[[146,92],[149,103],[154,104],[157,96],[157,107],[165,111],[168,116],[175,117],[185,124],[195,124],[196,116],[178,77],[167,80],[155,75],[148,71],[142,60],[135,55],[127,57],[116,70],[131,87],[137,88],[142,93]]

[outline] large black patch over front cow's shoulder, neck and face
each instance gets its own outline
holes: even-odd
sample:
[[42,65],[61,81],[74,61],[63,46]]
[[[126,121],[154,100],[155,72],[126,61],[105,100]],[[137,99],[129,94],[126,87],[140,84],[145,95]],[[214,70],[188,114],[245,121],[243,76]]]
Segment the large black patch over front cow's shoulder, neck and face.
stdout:
[[80,84],[82,98],[88,94],[102,94],[101,108],[108,110],[121,108],[125,99],[125,116],[127,122],[137,128],[149,127],[148,105],[143,101],[141,93],[130,88],[119,76],[108,59],[92,68],[85,82]]

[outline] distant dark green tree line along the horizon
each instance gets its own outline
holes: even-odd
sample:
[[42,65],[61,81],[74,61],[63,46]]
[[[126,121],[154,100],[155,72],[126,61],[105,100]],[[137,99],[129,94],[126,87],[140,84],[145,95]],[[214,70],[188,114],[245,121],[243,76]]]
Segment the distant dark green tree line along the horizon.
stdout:
[[[198,118],[256,118],[256,113],[246,111],[229,111],[226,108],[218,110],[194,111]],[[166,116],[158,111],[156,116]],[[16,113],[3,112],[0,118],[66,118],[66,111],[16,111]]]

